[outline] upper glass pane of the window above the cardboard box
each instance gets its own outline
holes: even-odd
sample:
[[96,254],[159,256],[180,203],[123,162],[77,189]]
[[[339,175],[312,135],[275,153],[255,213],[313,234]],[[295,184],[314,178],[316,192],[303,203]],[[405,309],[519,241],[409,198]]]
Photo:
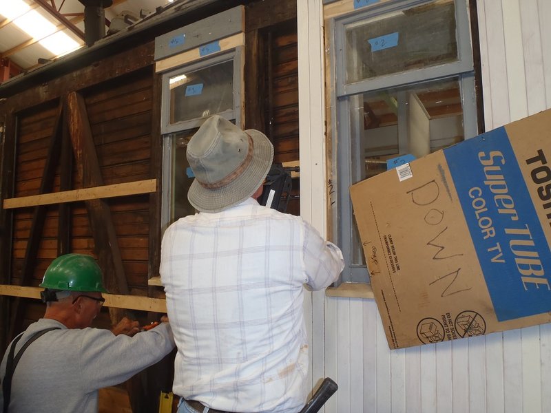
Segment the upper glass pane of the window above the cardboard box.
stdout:
[[349,23],[345,33],[346,83],[458,60],[452,0]]

